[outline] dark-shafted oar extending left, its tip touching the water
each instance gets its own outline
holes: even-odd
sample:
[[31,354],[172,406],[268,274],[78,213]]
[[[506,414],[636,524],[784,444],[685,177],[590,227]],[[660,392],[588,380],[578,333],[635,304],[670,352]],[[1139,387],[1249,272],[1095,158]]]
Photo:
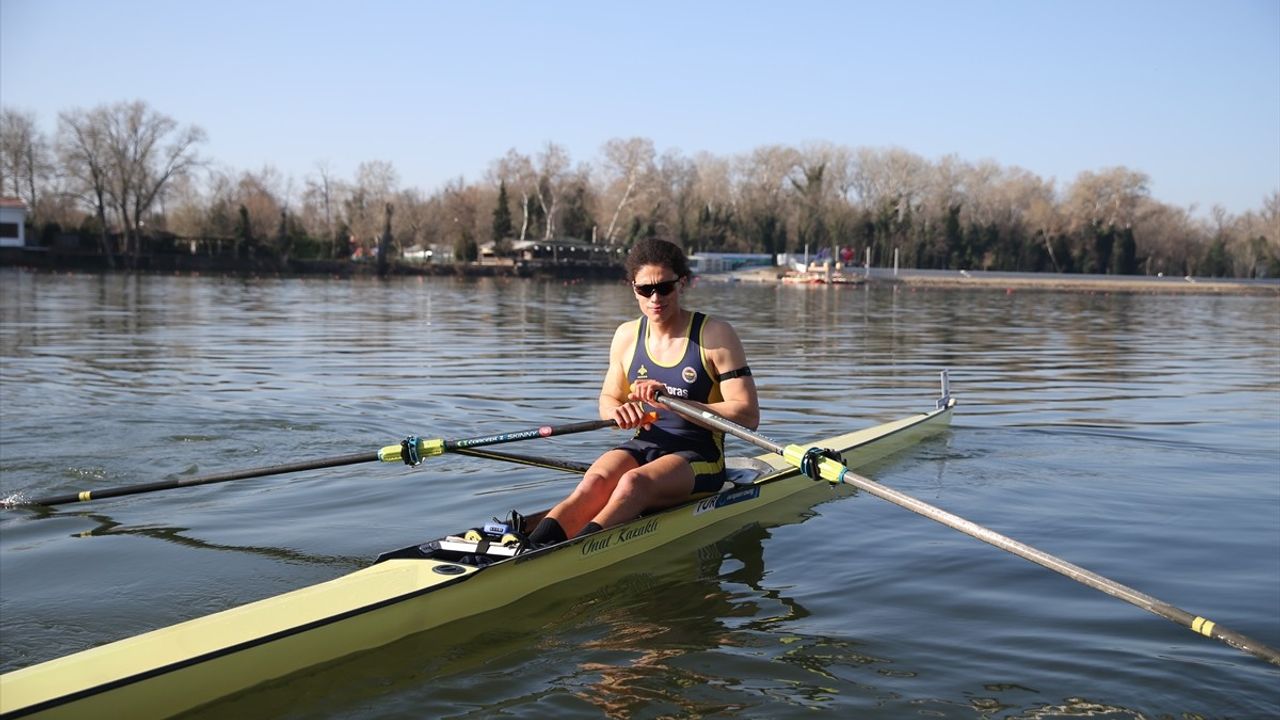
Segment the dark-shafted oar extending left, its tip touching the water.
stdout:
[[[657,419],[657,415],[650,414],[650,420]],[[105,500],[109,497],[120,497],[125,495],[138,495],[143,492],[155,492],[161,489],[173,489],[191,486],[207,486],[210,483],[225,483],[229,480],[243,480],[248,478],[262,478],[266,475],[280,475],[284,473],[297,473],[301,470],[319,470],[323,468],[338,468],[342,465],[356,465],[360,462],[398,462],[406,461],[411,465],[417,465],[422,459],[433,457],[435,455],[443,455],[445,452],[460,452],[466,448],[481,447],[486,445],[499,445],[504,442],[516,442],[521,439],[531,438],[545,438],[554,436],[567,436],[572,433],[585,433],[589,430],[599,430],[602,428],[612,428],[617,425],[613,420],[589,420],[585,423],[568,423],[563,425],[541,425],[538,428],[530,428],[526,430],[516,430],[511,433],[498,433],[493,436],[480,436],[471,438],[460,439],[424,439],[417,437],[408,437],[399,445],[389,445],[378,452],[356,452],[352,455],[338,455],[334,457],[323,457],[320,460],[307,460],[301,462],[285,462],[283,465],[270,465],[266,468],[251,468],[247,470],[230,470],[227,473],[214,473],[210,475],[197,475],[193,478],[179,478],[175,480],[160,480],[155,483],[140,483],[136,486],[123,486],[116,488],[104,488],[104,489],[86,489],[74,493],[58,495],[52,497],[41,497],[36,500],[22,500],[15,498],[5,501],[5,507],[22,507],[32,505],[52,506],[52,505],[67,505],[70,502],[88,502],[91,500]],[[406,460],[406,454],[408,460]],[[531,462],[532,464],[532,462]],[[538,462],[543,466],[553,466],[550,461]],[[557,468],[561,469],[561,468]],[[576,466],[573,468],[576,470]]]

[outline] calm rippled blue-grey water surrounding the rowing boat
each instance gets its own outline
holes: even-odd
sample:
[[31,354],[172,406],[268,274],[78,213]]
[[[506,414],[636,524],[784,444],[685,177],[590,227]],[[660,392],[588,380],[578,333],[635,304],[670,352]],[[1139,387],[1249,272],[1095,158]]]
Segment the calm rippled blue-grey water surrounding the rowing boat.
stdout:
[[[869,474],[1280,647],[1276,299],[704,283],[690,305],[732,319],[785,442],[924,410],[951,368],[952,430]],[[590,419],[635,311],[614,283],[0,270],[0,495]],[[518,450],[589,460],[617,437]],[[3,511],[0,669],[572,482],[448,456]],[[726,534],[205,715],[1280,715],[1280,669],[870,496],[815,488]]]

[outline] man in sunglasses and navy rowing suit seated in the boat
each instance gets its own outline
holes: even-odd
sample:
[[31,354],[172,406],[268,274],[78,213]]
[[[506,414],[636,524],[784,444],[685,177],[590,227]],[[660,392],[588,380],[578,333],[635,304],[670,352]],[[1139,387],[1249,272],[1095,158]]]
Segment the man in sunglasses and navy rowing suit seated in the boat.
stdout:
[[602,455],[573,492],[530,533],[535,546],[631,520],[724,483],[724,437],[675,413],[641,423],[658,393],[704,405],[755,429],[760,406],[746,352],[733,328],[681,305],[689,260],[662,240],[637,242],[626,260],[640,318],[618,325],[600,388],[600,418],[635,437]]

